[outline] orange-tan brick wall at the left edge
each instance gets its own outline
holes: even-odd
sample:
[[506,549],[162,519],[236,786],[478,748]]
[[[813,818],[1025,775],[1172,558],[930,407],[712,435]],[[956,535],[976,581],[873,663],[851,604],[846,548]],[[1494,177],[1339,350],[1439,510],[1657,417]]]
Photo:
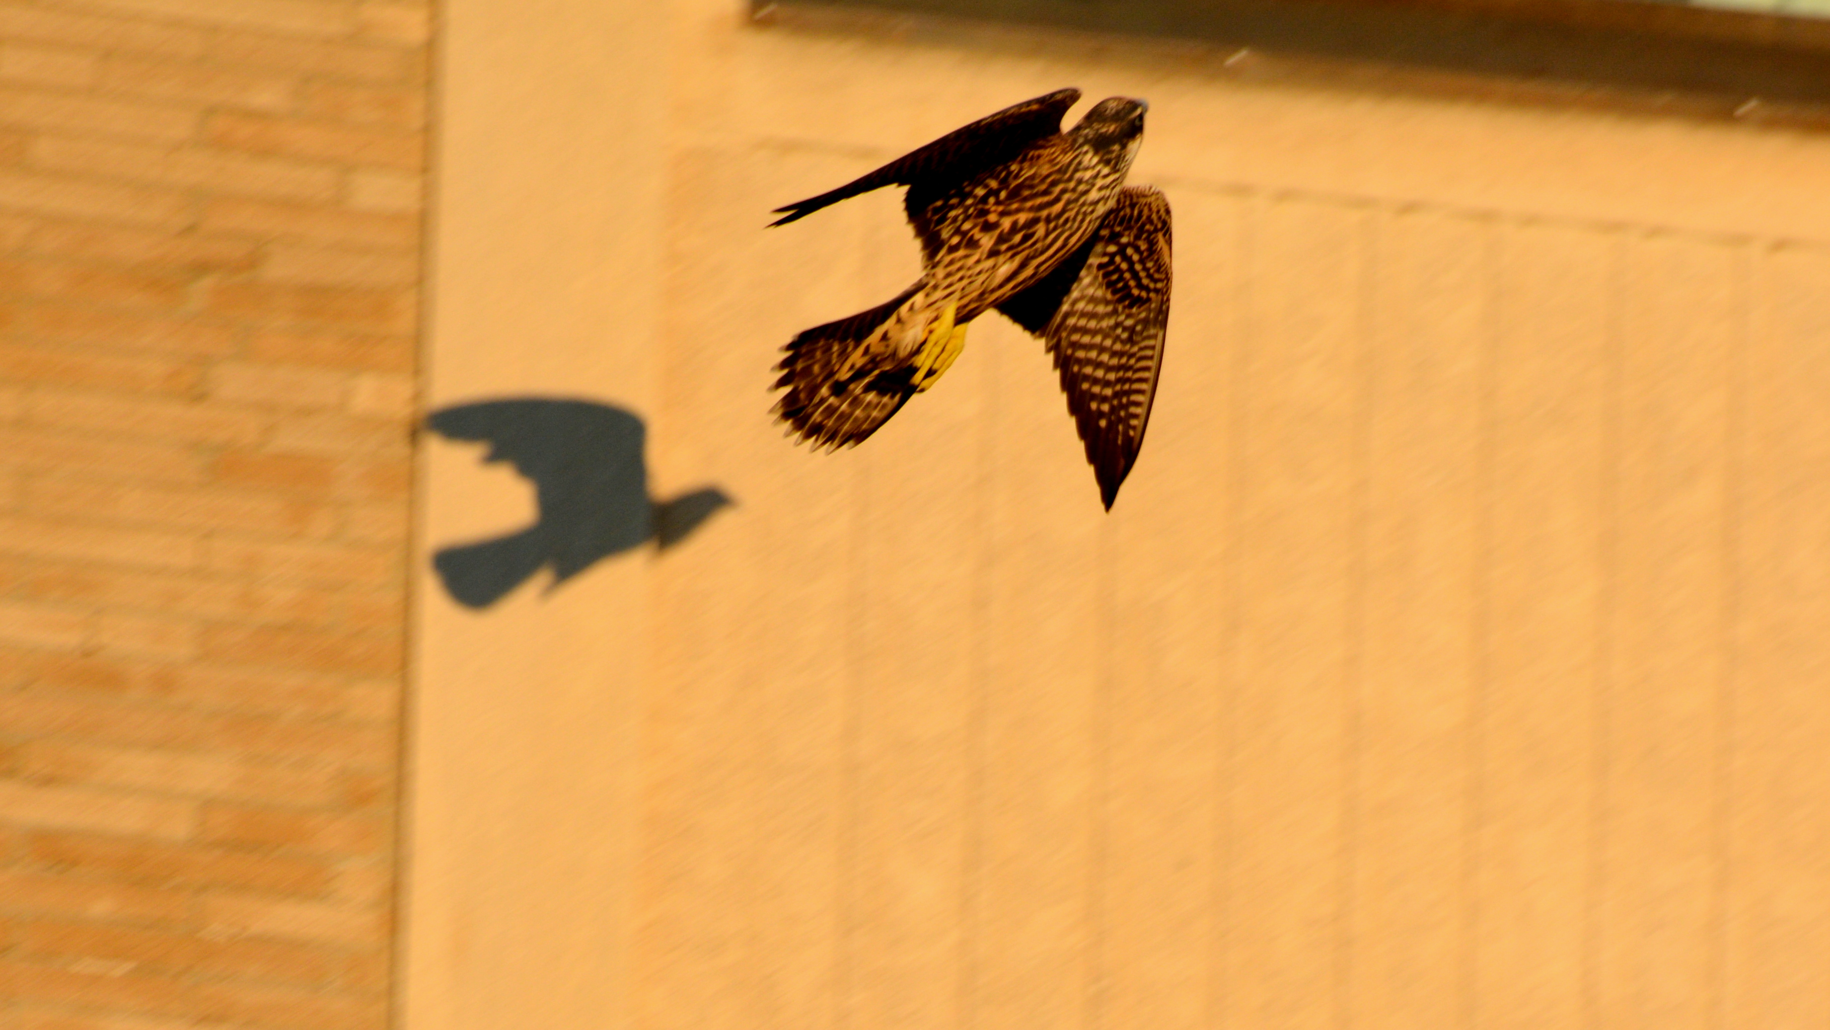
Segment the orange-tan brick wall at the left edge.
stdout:
[[0,1025],[386,1021],[428,20],[0,0]]

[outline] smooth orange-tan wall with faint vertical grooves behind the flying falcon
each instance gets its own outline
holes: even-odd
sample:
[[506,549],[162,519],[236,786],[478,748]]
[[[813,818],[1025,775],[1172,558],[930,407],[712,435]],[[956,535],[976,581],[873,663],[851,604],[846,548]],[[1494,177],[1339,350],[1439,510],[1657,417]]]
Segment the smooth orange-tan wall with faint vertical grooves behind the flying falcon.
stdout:
[[[421,446],[403,1019],[1830,1021],[1830,141],[1296,86],[730,0],[450,0],[426,406],[646,421],[677,547],[494,606],[533,518]],[[1116,509],[997,318],[864,446],[794,331],[1006,102],[1151,101],[1177,293]]]

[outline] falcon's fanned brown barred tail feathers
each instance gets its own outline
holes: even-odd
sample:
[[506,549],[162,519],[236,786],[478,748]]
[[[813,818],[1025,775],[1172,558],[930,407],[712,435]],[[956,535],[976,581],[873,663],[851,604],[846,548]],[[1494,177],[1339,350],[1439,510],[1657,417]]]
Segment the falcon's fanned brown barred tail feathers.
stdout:
[[[860,311],[851,318],[814,326],[794,337],[785,348],[776,390],[787,393],[776,402],[774,413],[789,423],[791,434],[814,448],[853,446],[877,432],[902,404],[931,382],[922,382],[922,368],[895,360],[889,353],[855,355],[864,342],[915,296],[920,284],[900,296]],[[851,371],[847,370],[851,366]]]

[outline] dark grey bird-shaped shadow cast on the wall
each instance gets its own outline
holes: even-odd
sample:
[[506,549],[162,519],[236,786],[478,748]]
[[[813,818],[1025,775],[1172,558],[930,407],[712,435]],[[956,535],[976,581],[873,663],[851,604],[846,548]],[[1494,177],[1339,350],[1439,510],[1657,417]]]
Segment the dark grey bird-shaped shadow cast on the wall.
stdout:
[[445,591],[465,607],[489,607],[553,569],[556,589],[597,562],[655,542],[668,549],[734,503],[705,487],[670,501],[648,496],[646,426],[637,415],[560,397],[509,397],[454,404],[426,428],[456,441],[489,443],[483,461],[507,461],[534,485],[533,525],[432,556]]

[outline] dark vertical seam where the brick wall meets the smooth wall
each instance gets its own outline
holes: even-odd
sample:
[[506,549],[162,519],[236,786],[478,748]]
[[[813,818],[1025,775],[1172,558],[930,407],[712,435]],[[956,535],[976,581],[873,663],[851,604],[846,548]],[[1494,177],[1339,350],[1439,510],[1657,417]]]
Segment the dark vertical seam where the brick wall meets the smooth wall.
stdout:
[[415,587],[417,556],[425,545],[426,527],[426,485],[430,470],[425,448],[421,446],[421,410],[430,397],[432,384],[432,309],[437,287],[434,269],[437,256],[437,154],[445,126],[445,4],[432,0],[430,31],[425,46],[425,97],[426,126],[425,150],[419,165],[419,309],[417,338],[414,348],[414,413],[408,426],[412,488],[406,496],[406,549],[401,554],[401,591],[403,606],[401,628],[403,655],[401,693],[395,708],[395,779],[393,779],[393,926],[390,928],[388,950],[388,1026],[401,1030],[406,1026],[406,950],[410,937],[410,891],[412,891],[412,805],[414,794],[414,741],[417,739],[417,701],[419,701],[419,611],[425,598]]

